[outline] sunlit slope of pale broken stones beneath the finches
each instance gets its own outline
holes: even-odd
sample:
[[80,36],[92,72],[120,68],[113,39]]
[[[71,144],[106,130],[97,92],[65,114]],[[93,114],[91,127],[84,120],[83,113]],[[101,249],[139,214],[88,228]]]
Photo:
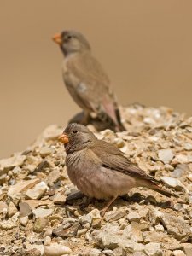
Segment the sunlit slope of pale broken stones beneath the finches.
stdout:
[[132,189],[101,218],[105,201],[73,198],[77,190],[57,142],[63,127],[51,125],[24,152],[0,160],[0,255],[192,255],[192,118],[140,105],[122,115],[126,132],[96,136],[178,199]]

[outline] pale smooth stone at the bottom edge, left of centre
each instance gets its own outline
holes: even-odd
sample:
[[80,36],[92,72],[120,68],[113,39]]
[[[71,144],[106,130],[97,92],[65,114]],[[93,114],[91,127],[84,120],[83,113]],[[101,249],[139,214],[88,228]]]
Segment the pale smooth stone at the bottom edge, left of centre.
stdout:
[[44,256],[61,256],[69,253],[72,253],[72,250],[59,243],[52,243],[49,246],[44,246]]

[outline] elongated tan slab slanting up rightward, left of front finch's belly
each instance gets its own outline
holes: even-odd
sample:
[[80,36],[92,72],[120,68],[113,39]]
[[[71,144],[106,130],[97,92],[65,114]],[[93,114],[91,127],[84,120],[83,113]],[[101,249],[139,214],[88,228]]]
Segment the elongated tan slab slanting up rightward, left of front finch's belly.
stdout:
[[26,189],[32,188],[38,182],[38,178],[20,181],[19,183],[16,183],[15,185],[9,187],[8,195],[14,200],[15,198],[17,198],[18,194],[26,191]]

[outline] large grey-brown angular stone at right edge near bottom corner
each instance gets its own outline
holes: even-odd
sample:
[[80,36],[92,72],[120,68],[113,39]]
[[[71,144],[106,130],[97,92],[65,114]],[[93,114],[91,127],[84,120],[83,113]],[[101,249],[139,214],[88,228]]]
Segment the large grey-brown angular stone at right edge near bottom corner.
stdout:
[[190,226],[185,221],[171,214],[164,214],[160,220],[167,230],[178,241],[186,242],[191,234]]

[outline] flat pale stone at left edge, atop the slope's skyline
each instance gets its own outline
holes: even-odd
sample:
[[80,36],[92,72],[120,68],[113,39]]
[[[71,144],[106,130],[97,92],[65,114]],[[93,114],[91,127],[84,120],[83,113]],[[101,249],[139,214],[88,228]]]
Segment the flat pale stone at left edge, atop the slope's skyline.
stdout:
[[26,160],[26,155],[15,154],[7,159],[0,160],[0,170],[13,168],[15,166],[21,166]]

